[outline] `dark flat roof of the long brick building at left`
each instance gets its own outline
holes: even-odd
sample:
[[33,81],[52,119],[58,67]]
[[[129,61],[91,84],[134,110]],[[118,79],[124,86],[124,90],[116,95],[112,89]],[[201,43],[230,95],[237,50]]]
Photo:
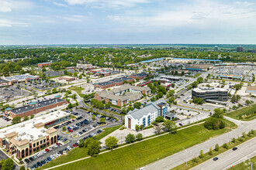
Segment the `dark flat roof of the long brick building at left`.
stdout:
[[[26,111],[38,109],[40,107],[46,107],[46,106],[51,105],[51,104],[57,104],[57,103],[59,103],[61,101],[64,101],[64,100],[63,99],[54,98],[54,99],[50,99],[50,100],[43,100],[43,101],[40,101],[39,103],[37,103],[37,102],[30,102],[29,104],[33,105],[33,106],[26,105],[26,106],[23,106],[23,107],[17,107],[17,108],[12,110],[12,113],[14,113],[14,114],[22,114],[22,113],[24,113]],[[31,103],[33,103],[33,104],[31,104]]]

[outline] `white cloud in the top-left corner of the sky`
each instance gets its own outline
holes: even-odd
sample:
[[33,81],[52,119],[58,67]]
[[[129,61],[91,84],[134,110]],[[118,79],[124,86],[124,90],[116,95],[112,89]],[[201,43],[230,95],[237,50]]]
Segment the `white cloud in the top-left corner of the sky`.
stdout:
[[0,0],[0,12],[12,12],[12,10],[23,10],[28,8],[33,8],[32,2]]

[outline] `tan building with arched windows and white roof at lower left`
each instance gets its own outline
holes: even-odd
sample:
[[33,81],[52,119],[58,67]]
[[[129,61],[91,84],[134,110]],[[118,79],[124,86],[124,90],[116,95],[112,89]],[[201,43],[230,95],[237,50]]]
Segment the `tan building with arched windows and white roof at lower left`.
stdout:
[[68,121],[70,117],[71,114],[58,110],[2,128],[0,146],[4,147],[9,155],[15,154],[17,158],[26,158],[36,151],[54,145],[57,142],[57,130],[50,127]]

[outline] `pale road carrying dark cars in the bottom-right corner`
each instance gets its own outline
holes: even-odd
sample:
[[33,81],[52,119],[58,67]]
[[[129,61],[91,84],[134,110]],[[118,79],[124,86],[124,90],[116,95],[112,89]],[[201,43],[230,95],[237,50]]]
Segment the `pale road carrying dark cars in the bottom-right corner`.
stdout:
[[224,153],[218,155],[217,161],[210,159],[209,161],[203,162],[202,164],[191,168],[193,170],[219,170],[230,168],[230,165],[234,165],[235,162],[239,161],[241,158],[251,155],[251,157],[256,155],[256,138],[252,138],[250,141],[246,141],[241,145],[237,146],[237,150],[232,149],[225,151]]

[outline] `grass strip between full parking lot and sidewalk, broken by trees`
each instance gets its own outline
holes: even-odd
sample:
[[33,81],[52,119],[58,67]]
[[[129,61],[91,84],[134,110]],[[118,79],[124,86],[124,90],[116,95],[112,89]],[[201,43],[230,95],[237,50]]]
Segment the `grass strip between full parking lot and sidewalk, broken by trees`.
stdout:
[[[104,131],[101,134],[97,135],[95,138],[98,140],[101,138],[104,138],[106,137],[106,135],[111,134],[113,131],[116,131],[116,129],[119,129],[121,126],[122,124],[118,126],[110,127],[110,128],[104,128],[103,129]],[[43,166],[43,168],[49,168],[51,166],[60,165],[65,162],[71,162],[76,159],[84,158],[87,156],[88,155],[87,155],[86,148],[75,148],[75,149],[72,149],[71,151],[68,151],[67,155],[61,155],[60,158],[54,159],[54,161],[49,162],[46,166]]]

